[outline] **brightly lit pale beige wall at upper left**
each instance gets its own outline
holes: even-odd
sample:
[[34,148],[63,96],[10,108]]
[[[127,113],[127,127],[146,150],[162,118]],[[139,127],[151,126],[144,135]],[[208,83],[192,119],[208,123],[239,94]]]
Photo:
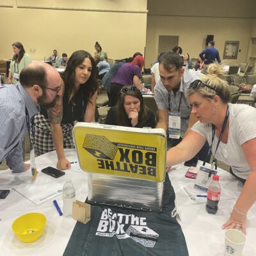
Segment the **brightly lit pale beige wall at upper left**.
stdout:
[[8,29],[1,40],[0,59],[11,58],[15,41],[22,42],[33,60],[43,60],[52,49],[68,56],[78,49],[94,54],[96,41],[109,58],[125,58],[144,52],[147,0],[17,0],[17,5],[2,0],[0,24],[2,33],[3,24]]

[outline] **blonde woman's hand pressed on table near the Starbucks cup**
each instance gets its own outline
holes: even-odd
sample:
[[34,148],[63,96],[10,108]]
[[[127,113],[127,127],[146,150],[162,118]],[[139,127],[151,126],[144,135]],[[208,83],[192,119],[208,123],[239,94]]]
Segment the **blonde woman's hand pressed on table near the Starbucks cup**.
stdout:
[[240,230],[246,235],[246,214],[242,215],[236,211],[231,212],[229,220],[222,226],[223,229],[234,228]]

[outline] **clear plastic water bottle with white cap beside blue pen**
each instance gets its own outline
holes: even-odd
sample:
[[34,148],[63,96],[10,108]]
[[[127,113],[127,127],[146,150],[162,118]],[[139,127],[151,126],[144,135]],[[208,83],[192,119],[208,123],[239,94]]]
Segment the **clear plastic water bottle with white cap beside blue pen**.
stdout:
[[66,181],[62,189],[63,195],[63,215],[72,216],[72,204],[76,200],[76,190],[70,179]]

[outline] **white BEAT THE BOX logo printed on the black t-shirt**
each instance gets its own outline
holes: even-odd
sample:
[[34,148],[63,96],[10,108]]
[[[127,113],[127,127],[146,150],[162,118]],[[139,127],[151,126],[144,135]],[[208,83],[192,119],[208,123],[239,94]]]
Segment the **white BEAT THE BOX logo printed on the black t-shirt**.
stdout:
[[112,212],[108,208],[102,211],[96,236],[116,236],[118,239],[131,237],[145,247],[154,247],[159,234],[147,227],[146,218]]

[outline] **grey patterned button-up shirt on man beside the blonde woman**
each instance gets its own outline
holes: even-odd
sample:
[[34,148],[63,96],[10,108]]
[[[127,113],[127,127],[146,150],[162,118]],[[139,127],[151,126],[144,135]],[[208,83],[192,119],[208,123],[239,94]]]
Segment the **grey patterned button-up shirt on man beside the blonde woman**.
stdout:
[[188,90],[189,84],[191,84],[196,79],[200,79],[200,77],[202,76],[204,75],[200,72],[196,72],[193,70],[184,70],[184,74],[180,83],[180,89],[178,92],[168,92],[166,88],[164,88],[161,79],[158,81],[154,89],[154,97],[158,109],[168,109],[169,112],[178,112],[180,102],[180,136],[182,138],[184,136],[184,133],[188,129],[189,115],[191,112],[191,106],[189,105],[189,102],[185,97],[185,93]]

